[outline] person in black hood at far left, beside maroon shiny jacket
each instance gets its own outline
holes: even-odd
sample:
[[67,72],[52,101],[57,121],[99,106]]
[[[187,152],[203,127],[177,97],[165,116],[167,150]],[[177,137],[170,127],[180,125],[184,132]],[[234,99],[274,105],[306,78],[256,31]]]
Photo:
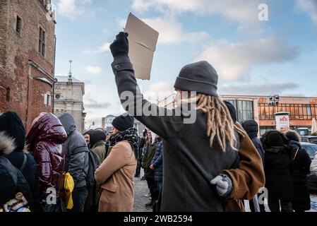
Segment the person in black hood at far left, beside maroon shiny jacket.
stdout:
[[4,131],[6,136],[14,139],[16,148],[6,157],[13,166],[20,169],[30,186],[31,193],[36,194],[37,165],[34,157],[25,153],[25,129],[16,112],[5,112],[0,115],[0,131]]

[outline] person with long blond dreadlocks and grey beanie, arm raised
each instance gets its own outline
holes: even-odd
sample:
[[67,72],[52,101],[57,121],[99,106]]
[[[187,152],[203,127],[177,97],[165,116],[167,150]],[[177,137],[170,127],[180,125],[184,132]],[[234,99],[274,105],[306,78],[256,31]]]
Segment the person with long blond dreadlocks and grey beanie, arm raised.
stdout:
[[[261,158],[251,141],[238,142],[241,136],[237,136],[229,110],[217,94],[218,76],[213,66],[207,61],[184,66],[174,84],[181,105],[172,111],[159,108],[140,93],[128,58],[127,37],[127,33],[120,32],[110,46],[112,69],[123,107],[162,137],[160,210],[223,211],[223,198],[240,199],[249,191],[254,196],[264,184]],[[198,95],[192,98],[183,91]],[[196,107],[191,100],[197,103]],[[189,103],[189,108],[184,103]],[[241,133],[242,130],[239,129]],[[244,156],[244,165],[239,161],[239,148],[249,148],[252,153],[252,157]],[[254,174],[247,170],[250,165]]]

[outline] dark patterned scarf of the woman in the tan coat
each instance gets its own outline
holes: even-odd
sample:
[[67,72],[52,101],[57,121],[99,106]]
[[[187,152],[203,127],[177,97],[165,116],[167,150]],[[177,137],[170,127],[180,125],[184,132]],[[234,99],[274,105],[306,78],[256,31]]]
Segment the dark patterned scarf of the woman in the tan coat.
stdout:
[[128,141],[137,158],[139,136],[136,128],[130,128],[125,131],[121,131],[120,133],[114,134],[114,136],[111,136],[111,138],[109,139],[109,146],[114,146],[120,141]]

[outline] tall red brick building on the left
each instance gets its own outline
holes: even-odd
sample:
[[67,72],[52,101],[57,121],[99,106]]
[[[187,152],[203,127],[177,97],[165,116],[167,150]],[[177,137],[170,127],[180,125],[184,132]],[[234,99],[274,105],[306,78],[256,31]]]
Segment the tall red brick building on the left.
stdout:
[[30,130],[52,112],[55,20],[50,0],[0,0],[0,113],[17,112]]

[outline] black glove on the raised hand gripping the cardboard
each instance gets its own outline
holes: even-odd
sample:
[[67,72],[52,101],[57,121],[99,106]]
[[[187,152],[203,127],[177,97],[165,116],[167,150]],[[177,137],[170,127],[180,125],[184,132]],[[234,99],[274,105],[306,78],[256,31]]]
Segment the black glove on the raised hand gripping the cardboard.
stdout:
[[114,58],[128,57],[128,33],[119,32],[119,34],[116,35],[116,40],[110,44],[110,50]]

